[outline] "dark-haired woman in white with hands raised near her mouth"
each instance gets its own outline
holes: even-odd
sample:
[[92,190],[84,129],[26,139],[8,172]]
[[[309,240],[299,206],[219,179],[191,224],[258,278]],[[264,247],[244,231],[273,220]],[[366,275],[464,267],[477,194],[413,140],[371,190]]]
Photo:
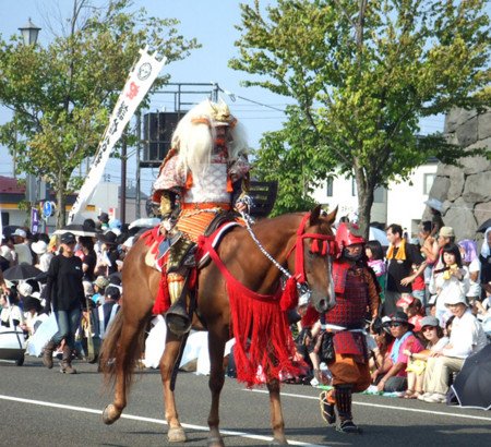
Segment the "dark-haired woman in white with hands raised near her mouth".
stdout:
[[433,269],[430,281],[430,292],[436,295],[436,318],[442,327],[450,316],[445,305],[447,299],[466,295],[469,290],[469,270],[462,263],[460,250],[455,243],[443,246],[441,261],[442,268]]

